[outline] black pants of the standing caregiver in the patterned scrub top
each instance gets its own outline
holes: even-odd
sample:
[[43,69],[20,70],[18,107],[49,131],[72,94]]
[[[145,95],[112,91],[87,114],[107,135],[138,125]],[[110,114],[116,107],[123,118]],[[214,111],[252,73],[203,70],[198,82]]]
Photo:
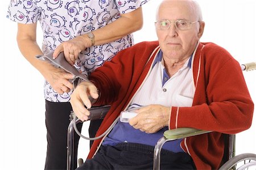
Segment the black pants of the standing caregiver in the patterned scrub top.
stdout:
[[[67,169],[67,133],[71,104],[46,101],[47,155],[45,169]],[[89,136],[95,136],[99,122],[90,122]],[[101,121],[100,121],[101,123]],[[82,124],[77,125],[81,131]],[[73,169],[77,167],[79,135],[75,132]]]

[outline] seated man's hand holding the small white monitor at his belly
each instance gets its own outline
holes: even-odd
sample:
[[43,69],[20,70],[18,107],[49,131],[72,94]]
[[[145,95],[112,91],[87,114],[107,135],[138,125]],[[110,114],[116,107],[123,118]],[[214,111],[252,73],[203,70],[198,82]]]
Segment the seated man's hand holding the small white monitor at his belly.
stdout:
[[148,105],[135,110],[139,113],[136,117],[130,119],[129,123],[134,128],[146,132],[155,133],[161,128],[168,126],[170,117],[170,107],[162,105]]

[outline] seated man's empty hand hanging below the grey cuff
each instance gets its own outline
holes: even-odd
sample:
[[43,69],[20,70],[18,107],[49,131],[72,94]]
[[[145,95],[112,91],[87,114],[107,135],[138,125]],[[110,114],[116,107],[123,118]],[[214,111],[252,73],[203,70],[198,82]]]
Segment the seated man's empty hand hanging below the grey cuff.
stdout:
[[89,109],[92,107],[92,103],[89,100],[89,96],[94,99],[98,98],[98,90],[92,82],[81,82],[71,94],[71,106],[76,114],[76,117],[81,121],[87,121],[89,116]]

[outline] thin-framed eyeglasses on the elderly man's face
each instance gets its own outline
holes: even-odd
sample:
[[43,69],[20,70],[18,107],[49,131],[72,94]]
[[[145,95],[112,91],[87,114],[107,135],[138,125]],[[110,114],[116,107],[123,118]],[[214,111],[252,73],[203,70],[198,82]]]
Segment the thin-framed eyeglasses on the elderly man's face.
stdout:
[[168,19],[162,19],[157,20],[155,22],[156,28],[159,30],[168,30],[171,26],[171,23],[174,23],[175,27],[181,31],[189,30],[191,27],[191,24],[199,22],[198,20],[195,22],[189,22],[188,20],[168,20]]

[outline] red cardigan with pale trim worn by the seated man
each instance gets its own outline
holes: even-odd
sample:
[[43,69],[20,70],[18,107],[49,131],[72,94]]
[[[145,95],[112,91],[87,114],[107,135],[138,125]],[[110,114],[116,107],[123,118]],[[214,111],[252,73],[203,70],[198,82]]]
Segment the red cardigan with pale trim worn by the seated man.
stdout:
[[[158,42],[136,44],[119,52],[90,75],[101,92],[96,105],[112,105],[97,135],[106,131],[129,106],[151,70],[158,50]],[[218,45],[200,43],[192,57],[192,71],[196,89],[193,105],[172,107],[169,127],[214,131],[186,138],[181,147],[192,156],[197,169],[217,169],[224,154],[222,133],[236,134],[249,128],[254,104],[240,64]],[[88,158],[93,157],[101,141],[93,143]]]

